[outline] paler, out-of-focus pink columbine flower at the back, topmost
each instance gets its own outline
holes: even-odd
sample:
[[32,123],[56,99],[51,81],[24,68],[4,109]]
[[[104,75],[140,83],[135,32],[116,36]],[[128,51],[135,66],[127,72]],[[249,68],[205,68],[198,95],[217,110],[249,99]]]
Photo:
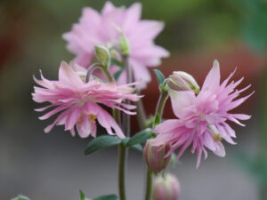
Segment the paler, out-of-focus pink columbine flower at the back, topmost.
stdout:
[[[108,2],[101,12],[86,7],[79,22],[63,38],[68,42],[69,52],[76,54],[75,62],[88,68],[93,59],[94,46],[101,44],[116,48],[121,31],[130,44],[129,62],[134,71],[134,80],[142,79],[144,87],[151,79],[148,67],[158,66],[169,52],[153,41],[164,28],[163,22],[141,20],[141,14],[142,4],[139,3],[126,9]],[[116,70],[113,66],[112,71]],[[118,83],[125,84],[125,77],[124,72]]]

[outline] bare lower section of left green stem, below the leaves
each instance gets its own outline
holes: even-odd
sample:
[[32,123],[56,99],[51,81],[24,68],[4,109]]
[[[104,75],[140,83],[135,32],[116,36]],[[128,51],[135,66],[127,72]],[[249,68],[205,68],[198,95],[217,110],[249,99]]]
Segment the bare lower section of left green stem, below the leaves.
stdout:
[[119,199],[125,200],[125,157],[126,148],[124,144],[119,144],[119,159],[118,159],[118,193]]

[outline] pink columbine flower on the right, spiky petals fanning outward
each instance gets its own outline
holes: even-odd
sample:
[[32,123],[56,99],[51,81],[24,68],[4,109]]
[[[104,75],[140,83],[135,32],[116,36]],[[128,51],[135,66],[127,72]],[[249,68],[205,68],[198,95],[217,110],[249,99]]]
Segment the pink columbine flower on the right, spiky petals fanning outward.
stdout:
[[171,148],[167,155],[172,154],[176,148],[180,148],[177,157],[182,156],[185,149],[192,144],[191,152],[194,153],[197,149],[197,168],[202,152],[206,159],[206,148],[212,150],[217,156],[225,156],[221,140],[235,144],[232,138],[236,137],[235,131],[227,124],[227,120],[245,126],[239,120],[250,118],[245,114],[229,113],[231,109],[237,108],[252,95],[251,93],[237,99],[239,94],[247,90],[250,85],[241,90],[235,90],[243,78],[228,84],[233,74],[234,72],[223,81],[223,84],[220,84],[219,62],[214,60],[214,66],[206,76],[197,96],[192,91],[170,91],[174,115],[179,119],[170,119],[158,124],[155,132],[159,134],[154,144],[170,143]]

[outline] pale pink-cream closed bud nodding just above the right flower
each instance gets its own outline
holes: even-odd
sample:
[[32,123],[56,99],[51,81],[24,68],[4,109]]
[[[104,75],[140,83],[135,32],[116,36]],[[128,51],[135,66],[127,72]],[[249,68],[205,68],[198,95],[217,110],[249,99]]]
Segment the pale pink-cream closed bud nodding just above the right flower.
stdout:
[[183,71],[174,71],[171,76],[169,76],[168,86],[174,91],[194,91],[199,92],[199,86],[193,76]]

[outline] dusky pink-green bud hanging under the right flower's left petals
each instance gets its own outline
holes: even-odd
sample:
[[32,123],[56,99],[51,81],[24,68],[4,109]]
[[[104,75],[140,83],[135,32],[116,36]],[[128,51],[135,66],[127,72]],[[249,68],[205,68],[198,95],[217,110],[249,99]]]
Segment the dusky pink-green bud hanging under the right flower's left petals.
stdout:
[[160,146],[153,145],[153,139],[147,140],[143,150],[143,156],[150,172],[158,173],[169,164],[171,156],[166,157],[166,153],[170,149],[170,145],[163,144]]

